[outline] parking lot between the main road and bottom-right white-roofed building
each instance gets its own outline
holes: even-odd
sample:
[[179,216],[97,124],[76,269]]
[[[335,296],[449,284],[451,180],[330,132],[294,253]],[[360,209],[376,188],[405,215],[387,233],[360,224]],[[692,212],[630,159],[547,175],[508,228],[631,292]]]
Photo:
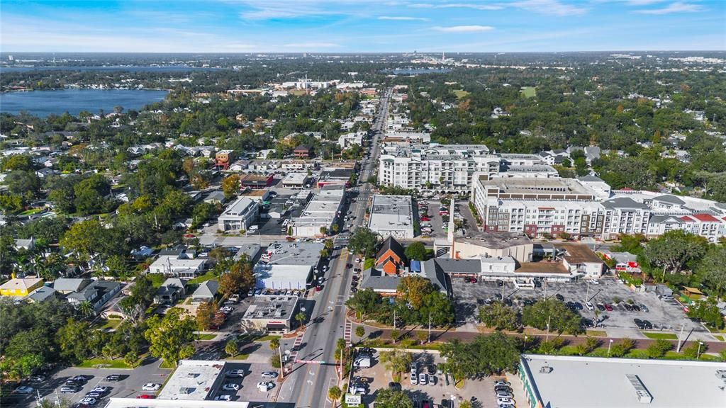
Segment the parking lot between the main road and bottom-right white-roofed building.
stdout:
[[[438,407],[441,404],[444,407],[448,407],[449,401],[454,396],[456,400],[454,406],[458,407],[461,401],[478,401],[475,407],[496,407],[497,399],[494,396],[494,380],[497,378],[483,378],[481,380],[466,380],[462,389],[454,388],[453,379],[444,375],[439,374],[441,370],[439,365],[444,362],[438,353],[417,353],[414,354],[414,362],[417,364],[418,373],[427,373],[431,370],[433,372],[433,384],[428,380],[430,376],[427,375],[426,384],[412,385],[409,372],[405,372],[401,376],[401,389],[406,391],[411,399],[414,401],[414,407],[423,407],[423,401],[433,401]],[[436,364],[436,367],[432,367]],[[372,367],[370,368],[359,368],[353,372],[353,377],[360,376],[365,378],[370,384],[368,387],[367,394],[362,397],[364,404],[370,406],[371,402],[375,400],[375,396],[378,390],[388,388],[391,383],[391,372],[386,370],[385,364],[379,362],[378,353],[372,361]],[[433,407],[433,405],[431,405]]]

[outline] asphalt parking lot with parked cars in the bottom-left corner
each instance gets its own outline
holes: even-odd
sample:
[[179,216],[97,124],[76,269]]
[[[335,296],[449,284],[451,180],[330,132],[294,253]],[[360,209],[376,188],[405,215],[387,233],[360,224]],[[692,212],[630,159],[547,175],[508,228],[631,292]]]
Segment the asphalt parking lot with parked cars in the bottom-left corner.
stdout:
[[[94,368],[76,368],[70,367],[60,370],[49,375],[42,383],[29,384],[31,387],[39,391],[41,398],[50,401],[68,401],[70,404],[76,404],[81,401],[86,393],[89,393],[97,386],[104,386],[108,391],[97,399],[97,406],[103,407],[105,402],[112,396],[122,398],[134,398],[141,394],[155,394],[154,391],[142,391],[142,385],[146,383],[163,384],[171,370],[162,370],[159,368],[159,362],[149,362],[135,370],[113,370],[113,369],[94,369]],[[108,375],[121,375],[119,381],[108,381],[105,378]],[[81,391],[77,393],[60,393],[60,387],[66,380],[83,375],[86,378]],[[19,399],[16,407],[36,407],[36,393],[26,394],[23,399]]]

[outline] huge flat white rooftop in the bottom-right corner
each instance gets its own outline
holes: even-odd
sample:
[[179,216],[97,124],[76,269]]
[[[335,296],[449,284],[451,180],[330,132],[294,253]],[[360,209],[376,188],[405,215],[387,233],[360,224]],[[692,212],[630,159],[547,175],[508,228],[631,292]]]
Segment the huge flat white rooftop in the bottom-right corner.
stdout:
[[726,363],[523,354],[521,364],[544,408],[726,407],[716,377]]

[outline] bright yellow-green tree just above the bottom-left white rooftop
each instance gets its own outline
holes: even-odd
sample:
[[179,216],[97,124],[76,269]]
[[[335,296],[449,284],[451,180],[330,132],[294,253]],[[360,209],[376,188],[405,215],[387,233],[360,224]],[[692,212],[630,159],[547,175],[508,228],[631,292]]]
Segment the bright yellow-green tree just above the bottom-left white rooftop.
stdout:
[[155,315],[148,319],[149,328],[144,332],[150,354],[174,365],[194,355],[192,341],[196,340],[197,324],[189,317],[182,317],[182,312],[173,308],[164,317]]

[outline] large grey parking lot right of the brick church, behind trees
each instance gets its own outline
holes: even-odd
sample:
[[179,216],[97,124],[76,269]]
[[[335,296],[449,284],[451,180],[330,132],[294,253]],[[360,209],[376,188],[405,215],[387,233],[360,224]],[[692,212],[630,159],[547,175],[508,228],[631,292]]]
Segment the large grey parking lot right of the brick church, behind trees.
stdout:
[[[564,302],[579,302],[583,306],[582,309],[578,308],[579,313],[592,322],[595,322],[595,311],[584,307],[585,299],[587,298],[593,306],[600,303],[605,307],[607,303],[613,310],[599,310],[597,314],[599,327],[608,332],[613,330],[623,335],[643,337],[634,319],[648,320],[653,326],[653,331],[680,331],[681,325],[684,325],[684,331],[687,333],[691,330],[706,331],[700,324],[686,316],[680,303],[672,299],[659,299],[655,293],[635,293],[619,280],[611,278],[601,279],[598,285],[590,284],[589,289],[587,282],[568,282],[547,283],[534,290],[518,290],[511,282],[504,282],[504,285],[499,287],[496,282],[480,280],[469,283],[462,278],[452,280],[452,287],[457,303],[457,319],[460,322],[474,322],[478,306],[487,299],[497,300],[502,293],[507,303],[522,305],[525,299],[532,301],[542,299],[546,290],[547,298],[561,296],[560,300]],[[645,305],[645,309],[628,311],[624,306],[626,303],[636,304],[639,307]]]

